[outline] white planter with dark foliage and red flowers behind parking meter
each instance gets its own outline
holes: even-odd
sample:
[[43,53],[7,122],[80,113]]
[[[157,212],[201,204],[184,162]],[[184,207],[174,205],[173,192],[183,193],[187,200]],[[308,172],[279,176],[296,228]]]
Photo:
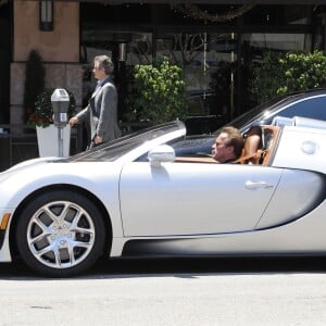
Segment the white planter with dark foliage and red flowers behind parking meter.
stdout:
[[[59,130],[53,125],[53,109],[51,96],[54,88],[46,88],[37,96],[34,111],[28,110],[27,125],[35,127],[37,131],[38,150],[40,156],[55,156],[59,153]],[[68,91],[70,105],[67,110],[67,122],[75,114],[76,102],[73,93]],[[70,155],[71,127],[67,124],[62,128],[63,155]]]

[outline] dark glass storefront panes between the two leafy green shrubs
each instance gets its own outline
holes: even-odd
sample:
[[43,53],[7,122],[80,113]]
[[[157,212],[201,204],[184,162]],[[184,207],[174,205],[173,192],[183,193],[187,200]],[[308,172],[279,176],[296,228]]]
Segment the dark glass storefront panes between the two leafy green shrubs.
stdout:
[[[213,130],[235,114],[235,33],[167,33],[156,38],[156,57],[167,57],[185,72],[188,113],[204,117]],[[210,130],[200,130],[210,131]]]

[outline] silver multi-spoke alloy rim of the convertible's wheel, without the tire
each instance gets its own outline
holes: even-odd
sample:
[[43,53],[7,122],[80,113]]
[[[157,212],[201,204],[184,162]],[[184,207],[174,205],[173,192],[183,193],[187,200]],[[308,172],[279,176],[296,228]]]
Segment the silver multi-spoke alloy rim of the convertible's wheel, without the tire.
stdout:
[[51,268],[70,268],[83,262],[95,246],[96,229],[79,205],[55,201],[42,205],[27,226],[30,253]]

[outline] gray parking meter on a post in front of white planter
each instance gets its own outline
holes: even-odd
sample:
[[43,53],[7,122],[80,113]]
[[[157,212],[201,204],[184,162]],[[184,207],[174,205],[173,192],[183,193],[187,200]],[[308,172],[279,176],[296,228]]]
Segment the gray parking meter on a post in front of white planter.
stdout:
[[63,88],[57,88],[51,96],[53,109],[53,124],[58,127],[58,156],[63,156],[63,127],[68,123],[67,110],[70,106],[70,96]]

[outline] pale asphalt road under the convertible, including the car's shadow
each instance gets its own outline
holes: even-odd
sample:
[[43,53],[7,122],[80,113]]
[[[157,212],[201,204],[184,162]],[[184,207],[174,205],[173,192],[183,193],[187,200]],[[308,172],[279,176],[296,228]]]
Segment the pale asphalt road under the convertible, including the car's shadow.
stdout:
[[0,325],[326,325],[326,259],[104,260],[68,279],[0,265]]

